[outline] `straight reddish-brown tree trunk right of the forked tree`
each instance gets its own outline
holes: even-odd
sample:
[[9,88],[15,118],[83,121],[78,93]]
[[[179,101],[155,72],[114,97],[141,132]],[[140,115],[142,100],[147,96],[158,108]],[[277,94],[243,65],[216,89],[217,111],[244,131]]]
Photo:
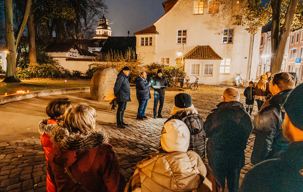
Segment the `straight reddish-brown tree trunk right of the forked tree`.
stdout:
[[37,63],[37,50],[36,50],[36,42],[35,42],[36,31],[35,31],[33,8],[31,8],[31,11],[28,15],[26,26],[27,26],[27,34],[28,34],[29,62]]

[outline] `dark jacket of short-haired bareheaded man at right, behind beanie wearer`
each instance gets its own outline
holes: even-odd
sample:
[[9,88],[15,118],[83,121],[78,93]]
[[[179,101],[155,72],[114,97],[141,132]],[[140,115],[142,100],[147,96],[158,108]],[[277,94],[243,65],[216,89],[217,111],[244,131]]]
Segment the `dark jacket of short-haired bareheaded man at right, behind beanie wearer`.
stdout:
[[281,91],[266,101],[255,115],[252,133],[256,135],[254,149],[251,153],[251,163],[257,164],[266,159],[278,158],[286,151],[288,139],[283,136],[282,124],[285,112],[282,105],[292,89]]

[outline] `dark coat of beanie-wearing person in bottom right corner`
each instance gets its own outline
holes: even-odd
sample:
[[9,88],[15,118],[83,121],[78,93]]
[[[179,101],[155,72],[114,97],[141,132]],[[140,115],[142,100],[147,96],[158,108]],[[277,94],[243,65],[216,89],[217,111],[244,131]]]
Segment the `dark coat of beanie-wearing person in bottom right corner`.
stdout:
[[302,192],[303,142],[293,142],[281,158],[263,161],[245,175],[238,192]]

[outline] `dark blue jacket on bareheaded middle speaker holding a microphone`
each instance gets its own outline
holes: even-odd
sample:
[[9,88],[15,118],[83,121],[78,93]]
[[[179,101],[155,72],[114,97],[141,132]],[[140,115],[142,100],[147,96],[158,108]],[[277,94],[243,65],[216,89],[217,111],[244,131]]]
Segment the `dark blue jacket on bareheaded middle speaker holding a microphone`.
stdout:
[[151,94],[149,91],[150,83],[147,82],[146,79],[143,79],[141,76],[138,76],[135,80],[136,83],[136,94],[137,99],[141,101],[145,101],[151,98]]

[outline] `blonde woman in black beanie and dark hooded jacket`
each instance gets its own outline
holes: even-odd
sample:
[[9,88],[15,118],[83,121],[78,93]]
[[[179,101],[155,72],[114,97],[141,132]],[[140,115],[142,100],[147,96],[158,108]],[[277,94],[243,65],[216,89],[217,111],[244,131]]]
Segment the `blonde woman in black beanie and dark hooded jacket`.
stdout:
[[[175,105],[171,110],[171,119],[179,119],[184,122],[190,132],[190,142],[188,150],[193,150],[205,161],[205,138],[206,133],[203,129],[203,119],[198,114],[194,105],[191,103],[191,96],[187,93],[179,93],[175,96]],[[160,142],[160,152],[163,152]]]

